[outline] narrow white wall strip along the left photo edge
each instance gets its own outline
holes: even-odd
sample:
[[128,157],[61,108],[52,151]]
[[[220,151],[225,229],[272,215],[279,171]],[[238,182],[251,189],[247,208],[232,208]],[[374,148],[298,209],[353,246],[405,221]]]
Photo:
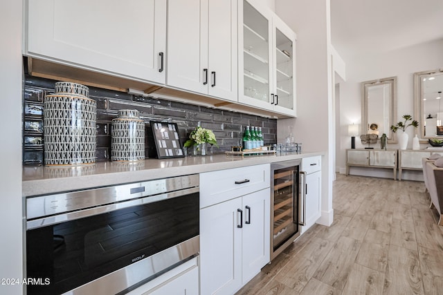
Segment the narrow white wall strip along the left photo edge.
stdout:
[[[22,3],[3,0],[0,17],[0,279],[21,278],[22,210],[21,210],[21,112]],[[1,282],[0,282],[1,283]],[[0,294],[21,294],[22,286],[0,285]]]

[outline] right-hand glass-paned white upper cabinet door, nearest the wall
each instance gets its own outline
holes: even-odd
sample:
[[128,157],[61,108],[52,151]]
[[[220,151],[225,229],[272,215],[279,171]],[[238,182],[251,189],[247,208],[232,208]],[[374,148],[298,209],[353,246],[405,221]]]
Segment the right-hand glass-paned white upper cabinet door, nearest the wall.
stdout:
[[296,116],[296,34],[278,17],[273,19],[274,111]]

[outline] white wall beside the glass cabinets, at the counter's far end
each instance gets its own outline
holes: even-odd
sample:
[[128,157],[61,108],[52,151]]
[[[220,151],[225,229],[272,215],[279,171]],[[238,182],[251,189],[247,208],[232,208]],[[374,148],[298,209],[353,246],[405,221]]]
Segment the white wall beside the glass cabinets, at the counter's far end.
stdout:
[[[332,113],[332,55],[329,48],[329,0],[309,2],[278,0],[275,12],[297,34],[297,113],[296,119],[278,120],[278,142],[293,126],[296,142],[304,151],[324,151],[322,173],[322,218],[332,222],[332,175],[334,166],[334,115]],[[332,137],[332,138],[331,138]],[[332,151],[332,153],[331,153]],[[332,155],[332,158],[330,157]]]

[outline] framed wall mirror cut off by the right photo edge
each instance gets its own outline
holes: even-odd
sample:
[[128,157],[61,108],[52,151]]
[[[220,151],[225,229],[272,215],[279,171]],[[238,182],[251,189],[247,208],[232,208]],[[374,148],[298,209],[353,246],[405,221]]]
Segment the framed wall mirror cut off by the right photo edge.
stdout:
[[443,68],[414,74],[414,115],[419,138],[443,138]]

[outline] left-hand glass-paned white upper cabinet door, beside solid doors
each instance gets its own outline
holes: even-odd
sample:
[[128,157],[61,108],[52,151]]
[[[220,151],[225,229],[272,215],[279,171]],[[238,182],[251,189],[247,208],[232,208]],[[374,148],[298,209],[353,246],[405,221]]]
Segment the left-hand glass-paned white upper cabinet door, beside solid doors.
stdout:
[[271,110],[271,12],[239,1],[239,23],[239,102]]

